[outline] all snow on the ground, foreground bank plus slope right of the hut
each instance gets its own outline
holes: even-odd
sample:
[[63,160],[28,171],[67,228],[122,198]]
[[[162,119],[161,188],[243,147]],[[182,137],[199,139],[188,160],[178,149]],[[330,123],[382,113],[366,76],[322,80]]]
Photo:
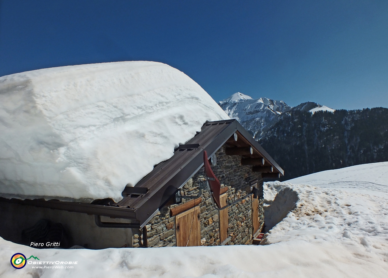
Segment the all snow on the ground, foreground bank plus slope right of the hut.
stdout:
[[[387,177],[381,162],[265,183],[268,221],[281,220],[267,245],[42,250],[0,238],[0,276],[388,277]],[[78,264],[18,270],[10,265],[17,252]]]

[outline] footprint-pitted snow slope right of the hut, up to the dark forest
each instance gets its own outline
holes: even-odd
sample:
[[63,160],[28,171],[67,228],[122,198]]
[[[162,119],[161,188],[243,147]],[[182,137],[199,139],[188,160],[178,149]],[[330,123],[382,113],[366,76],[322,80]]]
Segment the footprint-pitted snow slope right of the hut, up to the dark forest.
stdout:
[[[388,162],[327,170],[265,187],[265,221],[276,224],[282,219],[267,236],[268,243],[333,242],[388,262]],[[294,207],[283,219],[281,210],[290,200]]]

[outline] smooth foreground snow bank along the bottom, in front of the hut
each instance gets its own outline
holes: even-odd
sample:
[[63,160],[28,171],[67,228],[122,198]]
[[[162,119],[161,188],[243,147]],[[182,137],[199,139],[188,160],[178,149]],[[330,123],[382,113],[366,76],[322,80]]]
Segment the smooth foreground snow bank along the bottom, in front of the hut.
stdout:
[[[27,258],[34,255],[42,264],[27,264],[23,269],[14,269],[10,258],[16,253]],[[376,254],[360,253],[357,247],[333,242],[310,243],[305,240],[264,246],[58,250],[34,249],[0,238],[0,260],[0,275],[7,278],[385,278],[388,274],[386,262]],[[76,261],[77,264],[61,264],[66,261]],[[31,258],[27,262],[36,260]],[[53,266],[64,268],[51,269]],[[69,266],[73,268],[65,269]]]

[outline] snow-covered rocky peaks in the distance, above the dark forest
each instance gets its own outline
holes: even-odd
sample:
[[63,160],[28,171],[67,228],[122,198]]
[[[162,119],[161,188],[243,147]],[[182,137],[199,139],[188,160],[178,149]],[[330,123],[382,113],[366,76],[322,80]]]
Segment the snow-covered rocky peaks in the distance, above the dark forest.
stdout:
[[277,101],[266,97],[253,99],[240,92],[220,101],[220,106],[230,118],[237,119],[257,140],[261,139],[276,123],[277,118],[282,113],[291,110],[309,111],[313,114],[317,111],[334,112],[334,109],[311,101],[291,107],[284,101]]

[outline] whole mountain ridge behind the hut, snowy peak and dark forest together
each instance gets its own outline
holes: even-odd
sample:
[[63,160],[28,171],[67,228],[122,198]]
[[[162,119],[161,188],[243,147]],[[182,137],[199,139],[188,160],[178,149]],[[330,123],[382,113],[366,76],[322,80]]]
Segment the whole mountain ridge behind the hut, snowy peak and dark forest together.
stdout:
[[283,181],[388,161],[388,108],[334,110],[311,101],[291,107],[241,93],[220,106],[284,169]]

